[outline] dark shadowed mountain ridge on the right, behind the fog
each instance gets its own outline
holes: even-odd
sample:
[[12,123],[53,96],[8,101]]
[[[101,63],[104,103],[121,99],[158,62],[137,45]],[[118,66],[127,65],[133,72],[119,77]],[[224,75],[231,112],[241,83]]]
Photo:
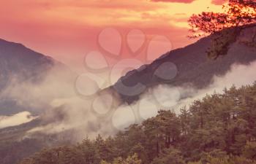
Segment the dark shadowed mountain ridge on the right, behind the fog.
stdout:
[[[217,60],[209,59],[206,54],[211,45],[211,37],[208,36],[195,44],[167,52],[153,63],[141,66],[138,70],[129,71],[111,87],[111,90],[119,93],[123,102],[132,104],[149,87],[159,84],[173,86],[189,84],[201,89],[211,84],[214,75],[225,74],[233,63],[248,64],[256,60],[256,25],[242,30],[237,41],[230,45],[227,55]],[[129,94],[125,94],[128,91]]]

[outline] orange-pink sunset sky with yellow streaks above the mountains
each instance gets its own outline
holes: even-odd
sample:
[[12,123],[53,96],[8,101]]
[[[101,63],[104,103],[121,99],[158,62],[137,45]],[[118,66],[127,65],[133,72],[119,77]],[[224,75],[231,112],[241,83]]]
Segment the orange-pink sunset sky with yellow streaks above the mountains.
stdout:
[[0,38],[22,43],[76,71],[83,70],[84,58],[91,52],[100,52],[108,60],[120,55],[121,59],[137,58],[147,63],[143,60],[145,55],[154,60],[165,50],[195,42],[187,37],[189,16],[203,11],[220,12],[224,3],[223,0],[1,0]]

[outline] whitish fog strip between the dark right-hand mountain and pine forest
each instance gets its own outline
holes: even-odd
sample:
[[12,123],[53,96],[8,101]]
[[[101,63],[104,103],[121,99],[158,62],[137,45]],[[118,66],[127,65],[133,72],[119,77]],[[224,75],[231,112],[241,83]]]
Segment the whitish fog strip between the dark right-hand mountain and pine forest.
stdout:
[[[256,61],[248,66],[233,64],[224,76],[214,76],[211,85],[197,90],[192,85],[174,87],[158,85],[140,96],[140,101],[130,106],[120,106],[116,110],[116,127],[122,130],[131,123],[140,123],[157,115],[159,109],[173,110],[179,114],[181,107],[189,106],[195,100],[200,100],[206,94],[223,93],[223,90],[233,85],[252,85],[256,80]],[[129,112],[127,109],[130,109]],[[125,111],[126,112],[122,112]],[[114,120],[115,121],[115,120]],[[115,122],[114,122],[115,123]]]

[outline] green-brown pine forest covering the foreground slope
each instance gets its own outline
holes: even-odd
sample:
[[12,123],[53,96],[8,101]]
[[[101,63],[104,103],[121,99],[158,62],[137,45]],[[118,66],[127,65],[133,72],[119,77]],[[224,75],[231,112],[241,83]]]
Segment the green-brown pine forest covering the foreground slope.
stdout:
[[20,164],[256,163],[256,83],[206,95],[109,138],[44,149]]

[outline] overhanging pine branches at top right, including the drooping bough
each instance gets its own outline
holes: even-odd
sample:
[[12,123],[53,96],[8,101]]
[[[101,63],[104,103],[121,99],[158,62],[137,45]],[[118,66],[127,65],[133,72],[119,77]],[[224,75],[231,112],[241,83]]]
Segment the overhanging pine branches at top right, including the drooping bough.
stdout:
[[223,12],[202,12],[189,18],[192,38],[214,34],[208,56],[217,58],[225,55],[228,46],[244,26],[256,23],[255,0],[230,0],[223,5]]

